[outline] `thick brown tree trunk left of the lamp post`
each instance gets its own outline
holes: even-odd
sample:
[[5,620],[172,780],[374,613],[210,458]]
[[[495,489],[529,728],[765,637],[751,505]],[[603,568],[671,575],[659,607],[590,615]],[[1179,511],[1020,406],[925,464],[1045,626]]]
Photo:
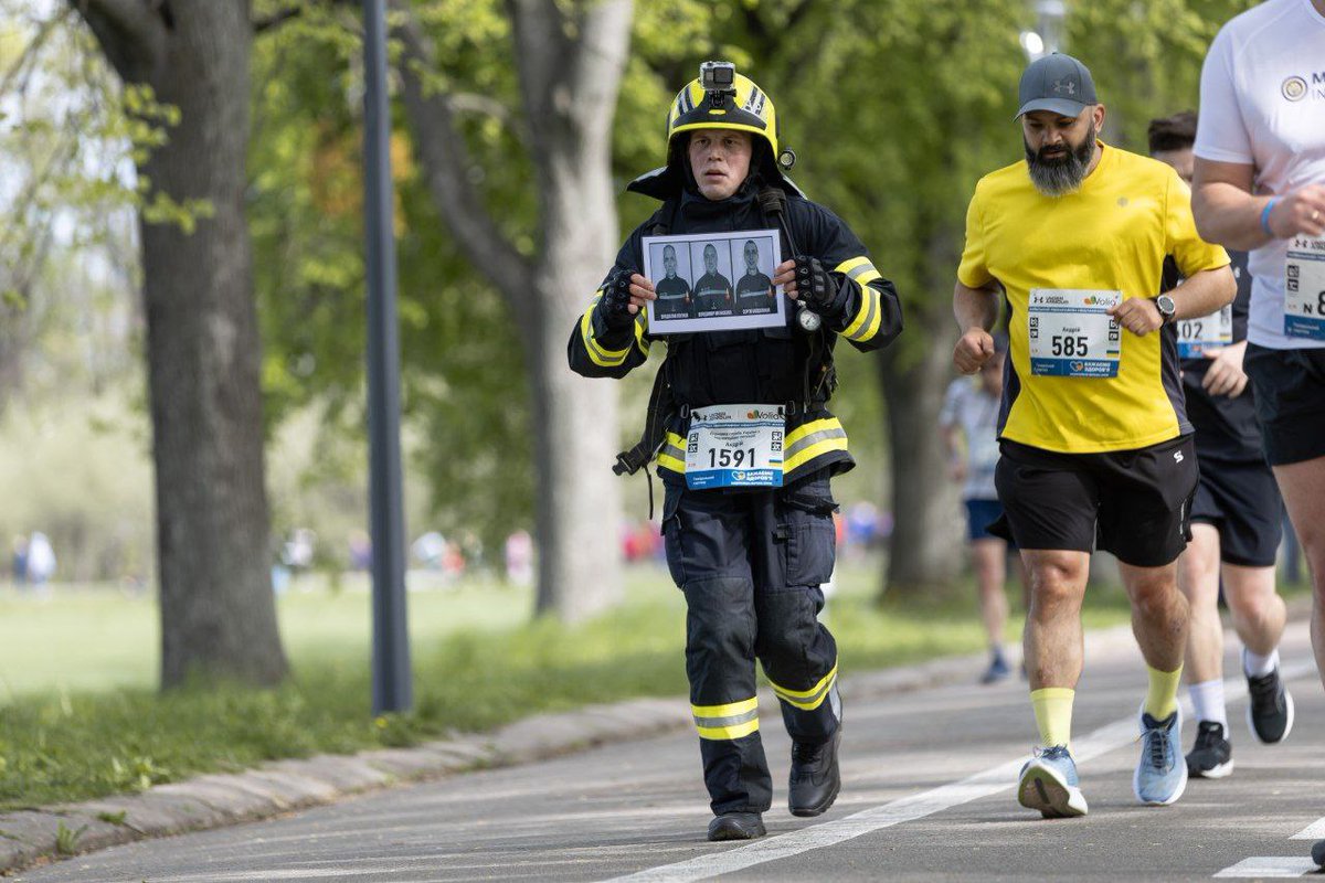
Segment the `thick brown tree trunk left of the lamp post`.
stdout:
[[162,683],[286,674],[269,572],[261,347],[244,213],[248,0],[68,0],[127,85],[178,109],[136,158]]

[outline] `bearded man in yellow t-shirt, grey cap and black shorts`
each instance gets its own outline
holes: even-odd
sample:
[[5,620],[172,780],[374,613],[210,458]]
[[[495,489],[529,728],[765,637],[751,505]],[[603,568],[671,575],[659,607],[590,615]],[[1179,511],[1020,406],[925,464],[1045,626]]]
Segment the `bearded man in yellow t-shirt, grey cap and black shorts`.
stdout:
[[[1118,559],[1150,676],[1133,792],[1173,804],[1187,784],[1177,700],[1187,602],[1175,561],[1196,488],[1173,322],[1220,308],[1236,283],[1224,250],[1196,234],[1178,175],[1097,139],[1105,109],[1085,65],[1040,58],[1019,99],[1026,160],[977,184],[953,295],[953,361],[965,373],[994,357],[990,328],[999,299],[1008,306],[995,475],[1004,515],[991,530],[1022,549],[1031,580],[1026,666],[1043,743],[1018,800],[1045,817],[1086,813],[1072,699],[1101,548]],[[1167,256],[1186,282],[1155,298]]]

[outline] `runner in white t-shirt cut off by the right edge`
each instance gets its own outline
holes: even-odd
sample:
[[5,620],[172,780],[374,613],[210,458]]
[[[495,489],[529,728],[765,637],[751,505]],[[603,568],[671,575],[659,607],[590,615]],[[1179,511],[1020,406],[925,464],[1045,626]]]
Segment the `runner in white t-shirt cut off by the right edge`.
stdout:
[[[1223,26],[1200,75],[1195,154],[1198,230],[1251,250],[1244,369],[1310,564],[1325,676],[1325,0],[1269,0]],[[1325,841],[1312,857],[1325,862]]]

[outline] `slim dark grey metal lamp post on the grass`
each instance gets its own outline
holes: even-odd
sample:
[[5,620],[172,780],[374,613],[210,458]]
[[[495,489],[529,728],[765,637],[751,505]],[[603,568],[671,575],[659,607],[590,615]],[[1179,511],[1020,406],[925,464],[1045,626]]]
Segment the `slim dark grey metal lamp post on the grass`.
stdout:
[[384,0],[363,0],[364,226],[368,252],[368,461],[372,526],[372,714],[413,706],[405,627],[400,338],[392,229]]

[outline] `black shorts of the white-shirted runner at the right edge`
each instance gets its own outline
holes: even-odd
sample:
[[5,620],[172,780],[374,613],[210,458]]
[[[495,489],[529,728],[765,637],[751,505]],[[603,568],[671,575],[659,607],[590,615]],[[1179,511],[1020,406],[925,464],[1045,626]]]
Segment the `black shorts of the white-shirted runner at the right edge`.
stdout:
[[1325,348],[1247,344],[1243,368],[1256,391],[1256,417],[1271,466],[1325,457]]

